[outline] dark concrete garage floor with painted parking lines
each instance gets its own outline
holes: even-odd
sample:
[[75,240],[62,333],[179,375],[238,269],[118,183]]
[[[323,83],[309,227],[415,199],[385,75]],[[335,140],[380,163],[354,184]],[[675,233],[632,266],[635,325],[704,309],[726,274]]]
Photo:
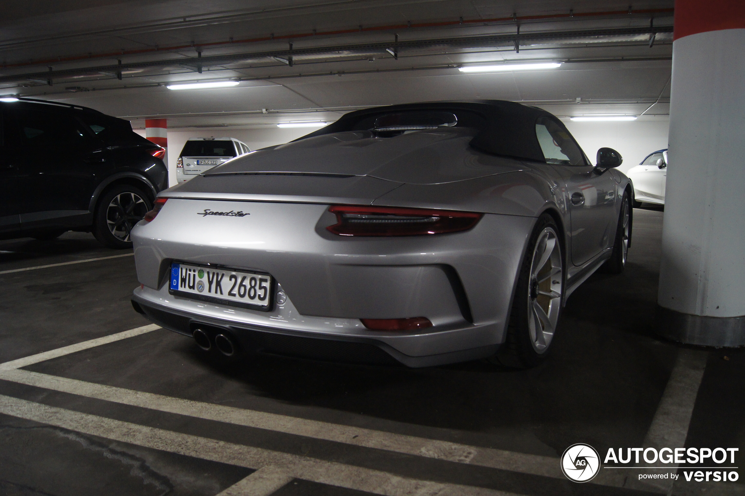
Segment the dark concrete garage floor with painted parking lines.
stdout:
[[[574,292],[532,370],[226,364],[162,329],[0,363],[0,495],[745,494],[685,468],[668,486],[630,465],[586,484],[559,470],[578,442],[745,456],[745,352],[656,338],[663,213],[634,214],[627,271]],[[133,257],[88,234],[0,242],[0,283],[0,362],[150,324]]]

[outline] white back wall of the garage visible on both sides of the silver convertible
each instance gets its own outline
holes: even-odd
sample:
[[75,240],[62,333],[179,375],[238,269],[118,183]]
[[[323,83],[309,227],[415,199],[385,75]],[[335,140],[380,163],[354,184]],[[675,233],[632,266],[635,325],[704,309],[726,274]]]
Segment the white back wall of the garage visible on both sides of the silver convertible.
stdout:
[[[568,120],[568,119],[567,119]],[[597,148],[607,146],[621,153],[624,163],[618,168],[627,172],[653,151],[668,148],[667,118],[634,122],[565,122],[569,132],[577,139],[587,156],[595,163]],[[315,131],[313,128],[189,128],[188,131],[168,131],[168,171],[171,186],[176,184],[176,159],[189,138],[220,138],[229,136],[240,139],[252,150],[279,145]],[[145,136],[145,130],[136,130]]]

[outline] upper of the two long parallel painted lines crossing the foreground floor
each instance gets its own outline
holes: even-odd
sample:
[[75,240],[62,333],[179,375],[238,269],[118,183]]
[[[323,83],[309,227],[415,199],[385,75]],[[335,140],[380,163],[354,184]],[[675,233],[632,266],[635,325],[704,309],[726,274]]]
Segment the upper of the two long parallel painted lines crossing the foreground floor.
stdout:
[[[258,412],[256,410],[236,408],[234,406],[190,401],[171,396],[133,391],[132,389],[89,383],[66,377],[40,374],[39,372],[17,370],[16,368],[2,370],[1,365],[0,379],[26,384],[28,386],[51,389],[53,391],[67,392],[86,398],[112,401],[130,406],[140,406],[161,412],[221,421],[227,424],[257,427],[259,429],[273,430],[313,439],[342,442],[347,445],[377,448],[428,458],[446,459],[450,462],[468,463],[523,474],[540,475],[557,479],[565,478],[559,468],[559,459],[549,456],[516,453],[514,451],[503,451],[492,448],[477,448],[475,446],[405,436],[380,430],[351,427],[343,424],[331,424],[329,422],[308,420],[276,413]],[[612,477],[610,474],[598,479],[598,481],[604,486],[621,486],[623,484],[623,480]]]

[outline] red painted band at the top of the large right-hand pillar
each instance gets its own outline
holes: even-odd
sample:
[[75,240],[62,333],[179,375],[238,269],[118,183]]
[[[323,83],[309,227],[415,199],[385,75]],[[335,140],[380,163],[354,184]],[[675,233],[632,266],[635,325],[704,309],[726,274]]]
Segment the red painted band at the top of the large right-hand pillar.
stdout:
[[744,0],[675,0],[673,40],[689,34],[745,28]]

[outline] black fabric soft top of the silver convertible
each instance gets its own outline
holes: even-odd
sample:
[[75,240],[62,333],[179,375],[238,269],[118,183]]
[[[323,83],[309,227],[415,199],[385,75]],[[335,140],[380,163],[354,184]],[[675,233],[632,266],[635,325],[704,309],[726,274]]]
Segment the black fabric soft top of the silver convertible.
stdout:
[[[564,123],[553,114],[514,101],[433,101],[355,110],[345,114],[337,122],[299,139],[343,131],[367,130],[373,127],[373,122],[378,116],[412,110],[454,113],[458,119],[458,126],[479,129],[479,133],[471,141],[472,147],[489,154],[538,162],[545,162],[545,158],[536,136],[536,121],[541,117],[548,118],[566,131]],[[568,131],[567,134],[571,136]]]

